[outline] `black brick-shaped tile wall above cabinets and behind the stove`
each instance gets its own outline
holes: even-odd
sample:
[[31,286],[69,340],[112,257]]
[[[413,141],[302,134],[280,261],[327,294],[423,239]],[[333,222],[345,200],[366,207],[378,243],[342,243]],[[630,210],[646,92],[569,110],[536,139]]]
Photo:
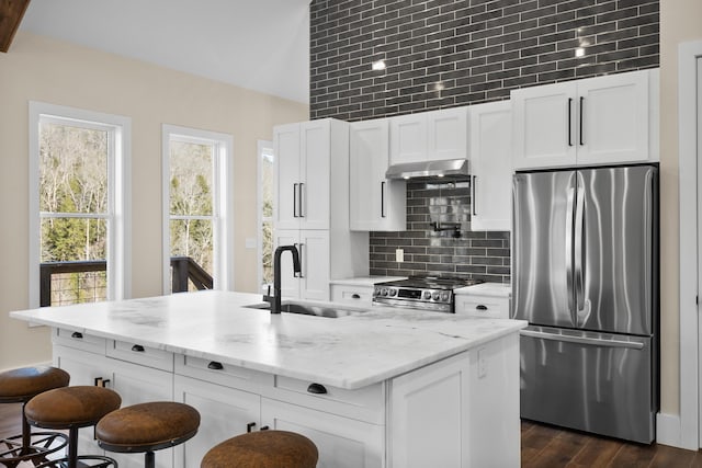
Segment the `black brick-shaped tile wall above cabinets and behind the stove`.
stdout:
[[[580,47],[585,55],[576,57]],[[386,69],[374,71],[378,59]],[[658,65],[658,0],[310,4],[313,119],[353,122],[500,101],[518,88]],[[408,185],[407,231],[371,233],[371,273],[509,281],[510,235],[468,230],[467,182],[441,190],[422,184]],[[437,198],[451,203],[433,204]],[[461,238],[430,230],[435,216],[460,222]],[[395,262],[397,248],[405,250],[404,263]]]

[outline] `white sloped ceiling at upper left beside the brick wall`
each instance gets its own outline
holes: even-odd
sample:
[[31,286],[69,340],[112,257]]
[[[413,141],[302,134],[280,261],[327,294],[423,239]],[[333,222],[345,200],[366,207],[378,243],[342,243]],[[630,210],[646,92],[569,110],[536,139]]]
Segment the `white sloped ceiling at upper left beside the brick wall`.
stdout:
[[21,31],[307,103],[309,2],[0,0],[0,39],[9,10]]

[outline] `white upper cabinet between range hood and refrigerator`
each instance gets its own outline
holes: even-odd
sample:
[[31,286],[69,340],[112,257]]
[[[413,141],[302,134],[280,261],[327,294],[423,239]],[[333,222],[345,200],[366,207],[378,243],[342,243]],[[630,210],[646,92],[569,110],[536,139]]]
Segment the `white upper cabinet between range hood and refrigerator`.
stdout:
[[509,101],[471,111],[471,230],[511,229],[512,113]]

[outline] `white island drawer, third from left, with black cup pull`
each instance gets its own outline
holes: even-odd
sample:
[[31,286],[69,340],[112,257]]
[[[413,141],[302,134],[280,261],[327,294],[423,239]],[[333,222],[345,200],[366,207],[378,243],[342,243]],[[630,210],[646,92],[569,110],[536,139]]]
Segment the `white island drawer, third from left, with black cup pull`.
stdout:
[[182,354],[176,356],[176,374],[256,392],[273,386],[272,374]]

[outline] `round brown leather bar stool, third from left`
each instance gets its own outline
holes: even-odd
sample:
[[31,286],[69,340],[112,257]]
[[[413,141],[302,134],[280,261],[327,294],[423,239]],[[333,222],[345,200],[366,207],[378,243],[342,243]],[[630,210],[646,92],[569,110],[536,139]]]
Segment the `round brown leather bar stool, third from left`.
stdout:
[[154,452],[188,441],[197,433],[200,413],[173,401],[133,404],[105,415],[95,426],[98,445],[105,450],[144,453],[144,466],[156,466]]

